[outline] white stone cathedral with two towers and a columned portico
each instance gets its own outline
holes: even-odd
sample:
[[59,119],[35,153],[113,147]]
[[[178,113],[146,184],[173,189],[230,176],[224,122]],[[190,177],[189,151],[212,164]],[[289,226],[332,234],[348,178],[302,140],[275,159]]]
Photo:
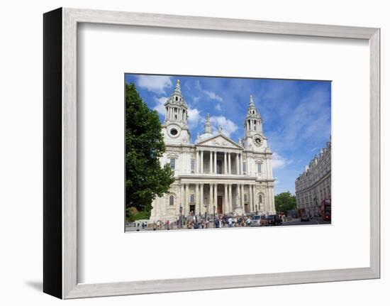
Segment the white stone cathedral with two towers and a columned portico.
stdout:
[[151,222],[175,221],[190,214],[275,213],[272,152],[252,96],[243,114],[244,136],[238,143],[221,126],[212,131],[209,115],[204,133],[190,143],[188,106],[179,80],[165,109],[166,151],[160,163],[169,163],[175,180],[167,194],[152,202]]

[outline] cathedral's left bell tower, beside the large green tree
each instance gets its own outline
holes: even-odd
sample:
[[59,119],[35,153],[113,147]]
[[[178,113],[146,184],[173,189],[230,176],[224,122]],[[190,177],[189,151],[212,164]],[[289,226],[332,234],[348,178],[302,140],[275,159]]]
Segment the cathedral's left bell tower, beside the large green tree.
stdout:
[[164,106],[165,122],[162,125],[162,133],[165,141],[167,143],[189,142],[188,106],[184,101],[180,80],[177,80],[176,86]]

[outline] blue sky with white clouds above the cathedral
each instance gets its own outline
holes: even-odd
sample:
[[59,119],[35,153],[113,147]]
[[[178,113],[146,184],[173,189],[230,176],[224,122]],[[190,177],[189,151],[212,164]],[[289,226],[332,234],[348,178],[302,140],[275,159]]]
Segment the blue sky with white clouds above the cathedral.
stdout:
[[243,138],[243,123],[253,95],[273,155],[275,195],[295,194],[295,180],[330,136],[331,82],[228,77],[130,75],[143,101],[165,119],[164,103],[176,80],[189,106],[191,143],[203,133],[207,113],[234,141]]

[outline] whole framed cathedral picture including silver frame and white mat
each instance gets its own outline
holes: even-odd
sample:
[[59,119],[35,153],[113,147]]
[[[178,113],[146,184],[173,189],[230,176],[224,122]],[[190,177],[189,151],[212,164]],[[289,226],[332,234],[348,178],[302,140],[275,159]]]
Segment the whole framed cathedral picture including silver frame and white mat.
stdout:
[[43,21],[45,293],[380,277],[379,28]]

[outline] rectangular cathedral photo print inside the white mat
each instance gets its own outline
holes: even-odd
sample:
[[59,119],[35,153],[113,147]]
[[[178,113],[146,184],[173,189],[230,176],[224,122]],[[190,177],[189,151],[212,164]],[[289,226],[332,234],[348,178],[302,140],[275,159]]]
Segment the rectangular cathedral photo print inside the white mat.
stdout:
[[331,223],[331,82],[125,75],[125,231]]

